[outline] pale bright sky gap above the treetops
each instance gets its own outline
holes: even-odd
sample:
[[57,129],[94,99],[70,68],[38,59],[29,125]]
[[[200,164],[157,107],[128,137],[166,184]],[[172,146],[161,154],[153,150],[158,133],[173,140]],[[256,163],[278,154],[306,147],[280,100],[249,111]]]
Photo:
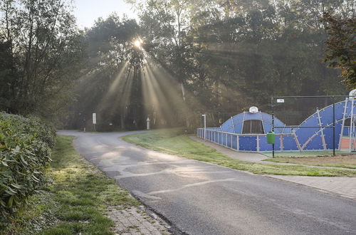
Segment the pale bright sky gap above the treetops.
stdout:
[[74,14],[80,28],[90,28],[99,17],[106,18],[116,11],[119,16],[126,14],[136,18],[136,14],[124,0],[74,0]]

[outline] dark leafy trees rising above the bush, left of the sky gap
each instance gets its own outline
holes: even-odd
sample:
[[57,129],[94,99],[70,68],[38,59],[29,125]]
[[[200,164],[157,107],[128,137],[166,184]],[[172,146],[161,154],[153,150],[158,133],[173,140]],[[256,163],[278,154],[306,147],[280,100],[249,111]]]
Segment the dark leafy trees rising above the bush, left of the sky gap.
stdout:
[[82,48],[67,1],[0,1],[0,110],[55,120],[73,98]]

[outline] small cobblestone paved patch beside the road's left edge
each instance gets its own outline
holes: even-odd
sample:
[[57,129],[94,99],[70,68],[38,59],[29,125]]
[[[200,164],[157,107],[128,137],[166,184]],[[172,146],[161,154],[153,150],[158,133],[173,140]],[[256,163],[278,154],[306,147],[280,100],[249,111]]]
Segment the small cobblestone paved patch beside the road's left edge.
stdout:
[[145,212],[144,207],[117,209],[110,207],[108,217],[115,223],[112,231],[120,235],[171,234],[168,228]]

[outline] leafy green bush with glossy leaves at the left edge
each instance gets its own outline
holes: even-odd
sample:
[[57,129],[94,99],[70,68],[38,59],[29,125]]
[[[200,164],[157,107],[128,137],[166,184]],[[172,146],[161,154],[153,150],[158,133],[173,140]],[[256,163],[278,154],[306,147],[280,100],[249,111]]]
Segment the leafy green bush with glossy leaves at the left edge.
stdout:
[[43,186],[55,135],[36,117],[0,113],[0,217]]

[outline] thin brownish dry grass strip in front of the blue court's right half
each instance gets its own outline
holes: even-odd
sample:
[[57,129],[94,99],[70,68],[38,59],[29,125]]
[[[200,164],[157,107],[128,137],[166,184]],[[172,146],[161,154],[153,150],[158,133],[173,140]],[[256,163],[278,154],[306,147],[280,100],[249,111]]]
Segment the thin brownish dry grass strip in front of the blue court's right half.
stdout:
[[355,155],[318,156],[318,157],[274,157],[264,161],[308,164],[319,167],[342,167],[356,169]]

